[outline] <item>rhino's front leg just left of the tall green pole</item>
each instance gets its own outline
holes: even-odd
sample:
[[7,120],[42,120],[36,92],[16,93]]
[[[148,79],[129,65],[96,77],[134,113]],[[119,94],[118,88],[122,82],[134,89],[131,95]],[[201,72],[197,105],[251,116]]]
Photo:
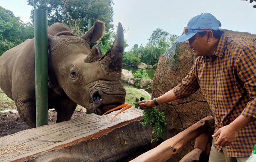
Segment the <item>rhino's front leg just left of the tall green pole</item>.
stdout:
[[29,125],[31,128],[36,127],[35,121],[35,101],[14,101],[18,109],[20,117]]

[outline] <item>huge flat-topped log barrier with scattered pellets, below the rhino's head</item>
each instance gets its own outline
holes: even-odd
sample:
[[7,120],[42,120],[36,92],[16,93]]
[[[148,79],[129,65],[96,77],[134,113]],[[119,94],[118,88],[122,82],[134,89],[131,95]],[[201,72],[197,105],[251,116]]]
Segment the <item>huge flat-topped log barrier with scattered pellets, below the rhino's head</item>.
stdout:
[[128,161],[150,149],[152,129],[142,110],[88,114],[0,138],[0,161]]

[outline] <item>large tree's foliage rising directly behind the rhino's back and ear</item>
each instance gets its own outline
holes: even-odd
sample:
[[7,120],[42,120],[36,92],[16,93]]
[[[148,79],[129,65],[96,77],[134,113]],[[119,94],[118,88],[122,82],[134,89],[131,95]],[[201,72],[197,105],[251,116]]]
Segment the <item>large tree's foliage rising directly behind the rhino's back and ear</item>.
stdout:
[[83,35],[88,30],[89,19],[99,19],[105,22],[106,33],[99,42],[102,52],[111,47],[113,29],[112,0],[28,0],[33,6],[30,19],[34,22],[34,9],[48,11],[48,25],[61,22],[66,24],[76,36]]

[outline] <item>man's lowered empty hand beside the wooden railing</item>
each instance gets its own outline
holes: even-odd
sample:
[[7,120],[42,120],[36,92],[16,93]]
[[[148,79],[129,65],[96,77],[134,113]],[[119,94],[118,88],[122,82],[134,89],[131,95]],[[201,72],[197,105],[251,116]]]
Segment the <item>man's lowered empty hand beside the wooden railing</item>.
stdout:
[[218,140],[213,144],[219,146],[230,146],[230,144],[236,139],[237,134],[238,130],[230,125],[219,128],[219,130],[212,135],[212,137],[217,137],[219,135]]

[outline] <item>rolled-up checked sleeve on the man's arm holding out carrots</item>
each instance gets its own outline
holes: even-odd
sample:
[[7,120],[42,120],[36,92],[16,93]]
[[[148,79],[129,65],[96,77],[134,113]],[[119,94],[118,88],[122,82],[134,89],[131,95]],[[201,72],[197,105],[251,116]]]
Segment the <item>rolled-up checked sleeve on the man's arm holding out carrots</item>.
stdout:
[[195,67],[198,58],[195,60],[188,75],[182,79],[176,87],[173,88],[173,93],[178,99],[184,99],[195,93],[199,88],[199,84],[195,75]]

